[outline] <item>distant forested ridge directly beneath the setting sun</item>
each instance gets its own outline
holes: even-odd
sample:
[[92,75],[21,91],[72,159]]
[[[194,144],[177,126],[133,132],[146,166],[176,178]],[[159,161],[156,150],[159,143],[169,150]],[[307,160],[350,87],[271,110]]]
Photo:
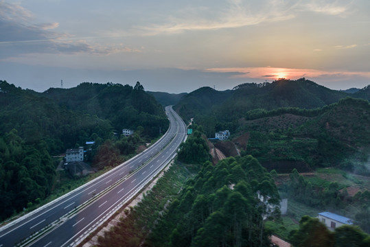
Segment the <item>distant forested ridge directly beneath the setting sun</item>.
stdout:
[[198,89],[181,98],[175,109],[185,119],[206,114],[214,115],[223,121],[233,121],[246,111],[256,108],[266,110],[281,107],[318,108],[338,102],[339,99],[349,95],[366,98],[363,90],[349,94],[327,89],[301,78],[263,84],[246,83],[236,86],[232,91]]

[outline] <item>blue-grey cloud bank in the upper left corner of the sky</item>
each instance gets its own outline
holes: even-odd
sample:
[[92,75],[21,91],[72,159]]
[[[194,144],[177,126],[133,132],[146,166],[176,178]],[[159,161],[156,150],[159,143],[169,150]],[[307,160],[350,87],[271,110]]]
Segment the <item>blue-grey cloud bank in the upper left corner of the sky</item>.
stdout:
[[70,34],[50,32],[59,23],[32,23],[33,14],[18,4],[0,1],[0,58],[21,54],[77,54],[109,55],[119,52],[139,52],[124,45],[100,45],[87,43],[86,39]]

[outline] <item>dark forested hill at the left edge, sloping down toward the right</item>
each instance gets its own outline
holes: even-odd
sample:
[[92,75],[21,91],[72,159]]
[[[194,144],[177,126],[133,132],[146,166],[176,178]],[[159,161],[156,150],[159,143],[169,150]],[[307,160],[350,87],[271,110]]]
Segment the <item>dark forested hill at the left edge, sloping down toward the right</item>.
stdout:
[[0,137],[15,129],[25,144],[44,142],[50,154],[60,154],[82,145],[86,141],[82,136],[97,133],[97,137],[106,139],[112,132],[111,124],[96,115],[76,113],[5,81],[0,81],[0,88]]

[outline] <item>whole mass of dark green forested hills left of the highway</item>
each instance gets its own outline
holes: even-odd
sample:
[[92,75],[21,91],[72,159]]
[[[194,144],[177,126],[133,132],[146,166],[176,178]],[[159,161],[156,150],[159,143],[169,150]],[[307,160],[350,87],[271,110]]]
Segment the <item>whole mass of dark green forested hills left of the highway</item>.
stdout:
[[[51,193],[56,185],[51,155],[95,141],[93,166],[116,165],[120,155],[135,153],[139,139],[151,141],[169,124],[139,82],[134,87],[82,83],[37,93],[0,80],[0,119],[0,220]],[[113,137],[122,128],[139,131]]]

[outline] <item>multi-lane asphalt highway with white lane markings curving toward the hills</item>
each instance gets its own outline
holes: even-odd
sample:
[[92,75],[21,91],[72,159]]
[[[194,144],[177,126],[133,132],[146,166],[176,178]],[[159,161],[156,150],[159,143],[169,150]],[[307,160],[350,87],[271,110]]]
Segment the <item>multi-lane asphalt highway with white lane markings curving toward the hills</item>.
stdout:
[[170,128],[129,161],[0,228],[0,247],[76,246],[128,202],[169,163],[185,141],[187,127],[171,106]]

